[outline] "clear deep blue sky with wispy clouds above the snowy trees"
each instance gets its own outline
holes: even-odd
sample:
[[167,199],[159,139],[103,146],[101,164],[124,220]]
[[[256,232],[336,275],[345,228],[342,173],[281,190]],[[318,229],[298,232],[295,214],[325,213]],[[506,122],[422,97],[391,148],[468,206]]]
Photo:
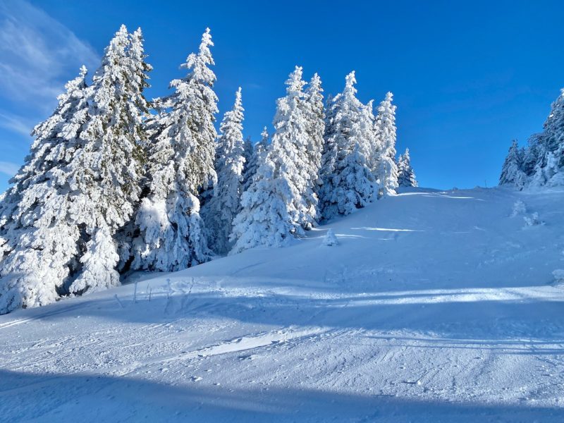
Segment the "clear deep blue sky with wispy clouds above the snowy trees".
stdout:
[[357,3],[0,0],[0,190],[27,133],[82,63],[93,73],[121,23],[145,34],[149,98],[183,76],[209,26],[220,114],[243,87],[245,135],[271,128],[296,64],[306,78],[318,72],[326,93],[354,70],[362,102],[394,93],[397,147],[410,147],[421,185],[495,185],[510,141],[541,130],[564,87],[564,2]]

